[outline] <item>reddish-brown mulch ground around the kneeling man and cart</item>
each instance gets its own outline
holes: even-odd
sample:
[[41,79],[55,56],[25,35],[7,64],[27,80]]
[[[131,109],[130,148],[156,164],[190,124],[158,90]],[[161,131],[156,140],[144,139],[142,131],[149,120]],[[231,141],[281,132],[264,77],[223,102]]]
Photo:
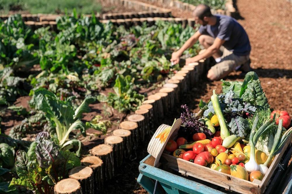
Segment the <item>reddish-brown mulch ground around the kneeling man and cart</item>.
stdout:
[[[286,0],[238,0],[237,7],[241,16],[239,23],[251,41],[251,67],[260,77],[269,104],[276,110],[292,113],[292,4]],[[180,16],[175,13],[179,12],[172,10],[174,16]],[[232,73],[227,79],[242,80],[243,77]],[[210,99],[213,89],[221,91],[220,84],[220,81],[199,83],[199,88],[187,96],[187,105],[196,112],[199,100]],[[179,109],[175,110],[169,121],[162,123],[170,124],[173,118],[179,117],[179,112]],[[136,180],[139,161],[147,155],[147,143],[139,149],[137,158],[129,161],[114,179],[105,184],[105,193],[147,193]]]

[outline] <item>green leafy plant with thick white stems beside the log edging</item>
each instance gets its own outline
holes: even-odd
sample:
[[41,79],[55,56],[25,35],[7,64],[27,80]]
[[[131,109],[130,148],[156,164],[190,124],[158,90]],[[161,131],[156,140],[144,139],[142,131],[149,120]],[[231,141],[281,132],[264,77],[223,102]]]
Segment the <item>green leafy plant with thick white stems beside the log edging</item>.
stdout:
[[86,126],[80,119],[82,113],[90,111],[88,105],[93,103],[94,98],[86,97],[75,110],[71,104],[73,98],[69,97],[65,100],[60,100],[52,92],[46,89],[38,89],[34,91],[33,101],[35,108],[43,111],[51,125],[55,127],[58,145],[61,149],[65,150],[74,147],[77,156],[79,156],[81,143],[79,140],[69,140],[69,135],[74,130],[80,130],[82,135],[86,135]]

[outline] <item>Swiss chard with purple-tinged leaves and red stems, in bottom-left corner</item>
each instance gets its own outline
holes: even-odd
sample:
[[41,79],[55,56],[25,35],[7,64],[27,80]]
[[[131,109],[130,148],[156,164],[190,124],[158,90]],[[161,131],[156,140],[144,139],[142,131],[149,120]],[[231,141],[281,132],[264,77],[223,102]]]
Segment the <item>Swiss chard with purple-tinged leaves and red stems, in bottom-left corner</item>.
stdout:
[[54,184],[68,177],[70,169],[80,165],[73,152],[60,150],[48,132],[41,132],[27,152],[16,152],[18,178],[12,179],[10,187],[21,186],[39,194],[53,193]]

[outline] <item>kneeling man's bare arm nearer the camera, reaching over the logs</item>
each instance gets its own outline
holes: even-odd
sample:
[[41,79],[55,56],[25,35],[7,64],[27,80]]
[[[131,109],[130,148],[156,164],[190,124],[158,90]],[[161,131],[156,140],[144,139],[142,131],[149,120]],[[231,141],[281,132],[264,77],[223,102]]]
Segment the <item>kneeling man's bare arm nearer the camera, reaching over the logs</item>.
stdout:
[[220,47],[225,43],[225,40],[221,40],[220,38],[215,38],[213,45],[206,49],[202,54],[198,54],[195,57],[186,59],[186,65],[189,63],[197,62],[201,59],[205,59],[211,57],[214,53],[218,52]]

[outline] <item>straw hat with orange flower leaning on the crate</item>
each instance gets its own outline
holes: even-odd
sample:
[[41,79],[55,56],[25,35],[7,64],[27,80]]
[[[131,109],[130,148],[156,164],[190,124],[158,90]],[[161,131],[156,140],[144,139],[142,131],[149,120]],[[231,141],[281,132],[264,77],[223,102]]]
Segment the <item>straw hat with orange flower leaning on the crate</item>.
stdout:
[[175,135],[178,133],[181,124],[182,119],[176,119],[172,127],[169,125],[162,124],[155,131],[147,148],[148,153],[155,158],[154,167],[157,167],[160,156],[162,155],[162,152],[164,151],[164,148],[168,140],[173,139],[175,137]]

